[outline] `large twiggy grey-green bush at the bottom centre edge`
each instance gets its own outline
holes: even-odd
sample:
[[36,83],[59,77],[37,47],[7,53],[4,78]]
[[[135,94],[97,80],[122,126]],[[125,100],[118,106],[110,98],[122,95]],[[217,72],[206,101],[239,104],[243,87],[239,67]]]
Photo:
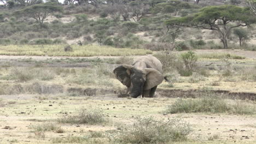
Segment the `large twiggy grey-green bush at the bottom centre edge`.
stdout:
[[190,131],[190,125],[179,118],[170,118],[168,121],[156,120],[154,117],[137,118],[135,123],[121,129],[117,140],[121,143],[185,141]]

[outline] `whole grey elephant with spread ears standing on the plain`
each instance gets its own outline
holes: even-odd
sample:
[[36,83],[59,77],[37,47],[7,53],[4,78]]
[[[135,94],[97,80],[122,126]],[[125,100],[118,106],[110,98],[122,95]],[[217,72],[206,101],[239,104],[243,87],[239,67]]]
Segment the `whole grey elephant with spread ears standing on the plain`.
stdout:
[[133,98],[154,97],[156,87],[164,80],[162,64],[152,55],[138,57],[132,65],[121,65],[114,74]]

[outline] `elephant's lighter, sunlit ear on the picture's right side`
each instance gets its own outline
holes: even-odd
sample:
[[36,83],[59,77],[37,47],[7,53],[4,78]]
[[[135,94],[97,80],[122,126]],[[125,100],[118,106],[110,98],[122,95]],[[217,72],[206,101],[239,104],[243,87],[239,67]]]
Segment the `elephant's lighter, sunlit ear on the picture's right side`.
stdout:
[[155,86],[158,86],[163,80],[164,76],[155,69],[145,68],[146,72],[146,82],[144,83],[144,90],[151,89]]

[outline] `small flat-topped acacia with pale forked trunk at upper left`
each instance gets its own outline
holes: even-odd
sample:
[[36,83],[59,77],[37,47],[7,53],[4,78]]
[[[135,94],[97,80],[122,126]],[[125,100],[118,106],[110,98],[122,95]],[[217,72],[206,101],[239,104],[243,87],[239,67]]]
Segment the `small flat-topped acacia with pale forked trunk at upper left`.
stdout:
[[44,20],[55,12],[61,12],[62,7],[56,3],[35,4],[15,11],[14,15],[23,17],[32,17],[43,27]]

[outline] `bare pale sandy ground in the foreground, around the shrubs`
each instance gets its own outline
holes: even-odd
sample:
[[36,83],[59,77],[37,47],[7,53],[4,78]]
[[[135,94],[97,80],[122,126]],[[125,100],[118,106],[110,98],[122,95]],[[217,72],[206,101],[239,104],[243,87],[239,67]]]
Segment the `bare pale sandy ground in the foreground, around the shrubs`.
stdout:
[[[106,97],[58,97],[44,95],[47,99],[40,100],[38,95],[14,95],[2,97],[5,106],[0,107],[0,143],[51,143],[54,137],[84,136],[89,130],[106,131],[117,129],[115,125],[131,123],[133,117],[154,116],[159,119],[179,117],[191,124],[193,132],[190,139],[198,142],[208,140],[218,135],[216,143],[254,143],[256,142],[255,115],[237,116],[224,114],[174,114],[162,115],[176,99],[143,98],[127,99],[117,98],[117,95]],[[58,99],[56,99],[56,97]],[[15,101],[12,104],[10,101]],[[52,106],[50,106],[52,105]],[[63,115],[73,115],[80,107],[98,107],[102,109],[112,121],[107,125],[63,124],[56,123],[57,118]],[[65,114],[66,113],[66,114]],[[45,131],[40,137],[33,127],[43,123],[55,123],[65,130],[65,133]]]

